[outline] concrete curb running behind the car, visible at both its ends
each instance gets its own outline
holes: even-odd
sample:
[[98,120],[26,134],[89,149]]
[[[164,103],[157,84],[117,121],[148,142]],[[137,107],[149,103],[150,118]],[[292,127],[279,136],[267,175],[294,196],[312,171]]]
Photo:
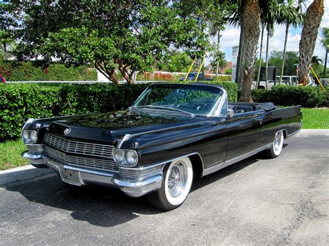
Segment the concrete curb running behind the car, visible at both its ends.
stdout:
[[[296,137],[329,136],[329,129],[302,129]],[[55,175],[51,168],[35,168],[34,166],[22,166],[0,171],[0,187],[15,186],[35,179],[42,179]]]

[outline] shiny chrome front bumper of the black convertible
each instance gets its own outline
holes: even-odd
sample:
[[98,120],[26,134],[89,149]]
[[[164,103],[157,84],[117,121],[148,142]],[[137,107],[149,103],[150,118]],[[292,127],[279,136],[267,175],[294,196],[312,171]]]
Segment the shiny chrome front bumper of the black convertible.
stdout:
[[[53,159],[49,159],[43,154],[35,154],[31,152],[23,152],[22,157],[28,159],[31,165],[37,168],[52,168],[60,174],[61,170],[72,170],[78,172],[79,184],[64,182],[74,185],[100,184],[103,186],[111,186],[120,188],[126,195],[130,197],[140,197],[151,191],[161,188],[162,169],[165,164],[158,164],[139,168],[119,168],[118,172],[109,172],[96,170],[92,168],[69,166],[69,164],[61,164]],[[121,172],[122,170],[122,172]],[[124,177],[121,173],[132,171],[137,174],[135,178]],[[142,175],[139,177],[139,173]]]

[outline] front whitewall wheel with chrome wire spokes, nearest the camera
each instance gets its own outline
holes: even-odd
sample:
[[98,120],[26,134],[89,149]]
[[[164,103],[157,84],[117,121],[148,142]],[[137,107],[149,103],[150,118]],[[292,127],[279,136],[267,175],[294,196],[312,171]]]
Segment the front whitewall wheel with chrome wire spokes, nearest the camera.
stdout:
[[163,210],[173,210],[185,201],[192,186],[193,168],[188,157],[172,161],[164,170],[160,190],[148,195],[153,206]]

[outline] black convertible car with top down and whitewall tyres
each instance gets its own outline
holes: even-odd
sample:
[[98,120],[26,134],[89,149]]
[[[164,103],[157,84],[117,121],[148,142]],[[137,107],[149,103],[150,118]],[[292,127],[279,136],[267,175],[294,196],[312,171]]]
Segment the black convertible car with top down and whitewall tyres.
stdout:
[[195,176],[260,151],[278,157],[283,140],[301,129],[300,109],[230,103],[218,85],[153,84],[122,112],[29,119],[23,157],[69,184],[147,194],[171,210],[183,204]]

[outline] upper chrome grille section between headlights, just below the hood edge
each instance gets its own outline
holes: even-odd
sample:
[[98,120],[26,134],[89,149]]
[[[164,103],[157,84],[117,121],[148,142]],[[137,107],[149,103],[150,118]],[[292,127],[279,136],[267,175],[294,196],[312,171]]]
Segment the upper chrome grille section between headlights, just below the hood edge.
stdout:
[[71,141],[51,133],[46,133],[44,135],[44,143],[71,154],[92,155],[94,157],[106,157],[113,159],[113,146],[98,143]]

